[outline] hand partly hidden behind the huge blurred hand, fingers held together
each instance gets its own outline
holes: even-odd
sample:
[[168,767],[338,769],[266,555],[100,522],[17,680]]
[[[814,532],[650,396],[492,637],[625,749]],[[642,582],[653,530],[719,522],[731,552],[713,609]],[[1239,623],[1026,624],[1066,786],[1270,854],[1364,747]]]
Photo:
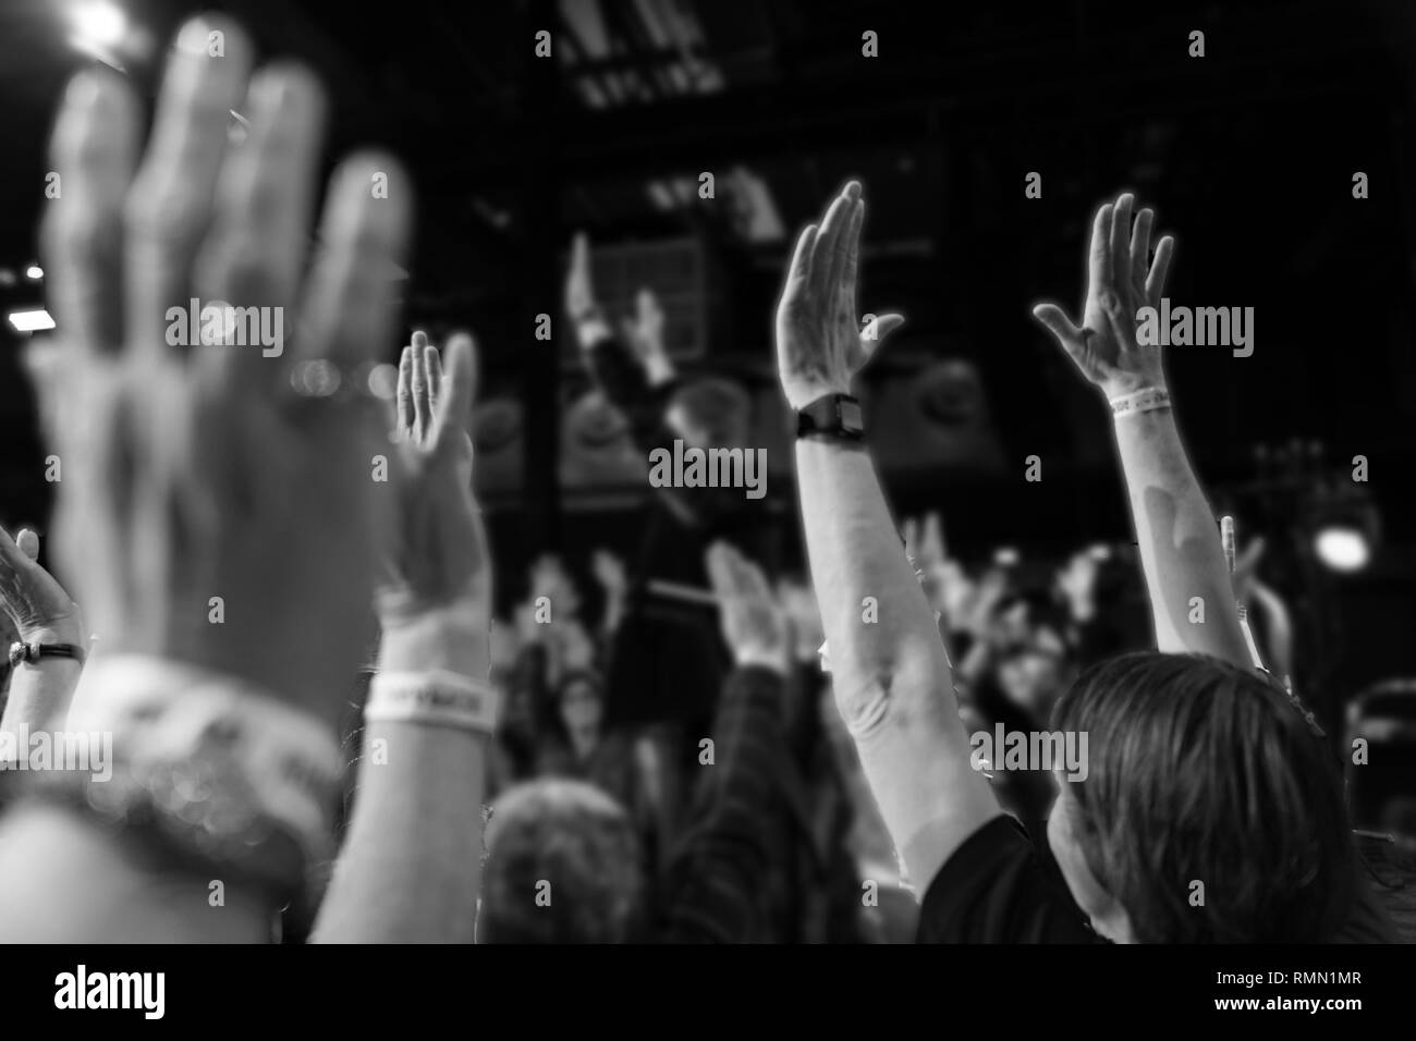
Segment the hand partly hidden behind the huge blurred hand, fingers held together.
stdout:
[[447,370],[423,333],[398,363],[394,525],[384,554],[378,613],[385,625],[472,601],[487,616],[491,565],[472,494],[472,337],[447,343]]

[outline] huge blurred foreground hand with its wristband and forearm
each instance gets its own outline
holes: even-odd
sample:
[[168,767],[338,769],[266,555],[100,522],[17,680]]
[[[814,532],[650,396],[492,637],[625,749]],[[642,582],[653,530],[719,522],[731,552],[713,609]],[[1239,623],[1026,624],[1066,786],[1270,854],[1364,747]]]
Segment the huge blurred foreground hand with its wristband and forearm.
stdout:
[[307,263],[323,92],[293,65],[252,76],[253,50],[227,18],[185,23],[146,150],[106,71],[78,75],[55,126],[62,378],[41,399],[64,459],[55,542],[102,640],[67,728],[110,755],[31,778],[0,824],[7,940],[269,939],[331,853],[372,579],[361,387],[412,197],[389,156],[346,161]]

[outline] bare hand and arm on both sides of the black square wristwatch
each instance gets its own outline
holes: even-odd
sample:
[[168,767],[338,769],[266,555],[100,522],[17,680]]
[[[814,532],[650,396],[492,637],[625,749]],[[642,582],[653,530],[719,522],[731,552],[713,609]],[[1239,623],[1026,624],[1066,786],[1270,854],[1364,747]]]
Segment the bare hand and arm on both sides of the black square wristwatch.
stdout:
[[[903,322],[862,336],[855,275],[865,204],[847,186],[797,239],[777,306],[782,388],[793,409],[848,395],[871,350]],[[861,442],[797,440],[811,579],[831,657],[835,704],[881,814],[923,888],[998,804],[969,763],[949,659]]]

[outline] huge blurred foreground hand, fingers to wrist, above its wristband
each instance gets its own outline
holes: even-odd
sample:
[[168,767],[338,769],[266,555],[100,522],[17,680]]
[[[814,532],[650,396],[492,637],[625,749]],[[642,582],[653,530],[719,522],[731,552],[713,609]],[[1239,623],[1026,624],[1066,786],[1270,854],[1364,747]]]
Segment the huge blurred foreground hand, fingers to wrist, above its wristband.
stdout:
[[[187,23],[146,154],[126,79],[85,71],[65,95],[42,237],[64,355],[41,395],[65,470],[57,542],[108,653],[214,669],[333,719],[368,639],[364,388],[411,190],[387,156],[347,160],[306,275],[324,96],[299,67],[249,75],[252,51],[225,18]],[[236,146],[234,109],[251,125]],[[215,343],[193,343],[191,299],[242,309],[235,329],[261,341],[218,320],[202,323]]]

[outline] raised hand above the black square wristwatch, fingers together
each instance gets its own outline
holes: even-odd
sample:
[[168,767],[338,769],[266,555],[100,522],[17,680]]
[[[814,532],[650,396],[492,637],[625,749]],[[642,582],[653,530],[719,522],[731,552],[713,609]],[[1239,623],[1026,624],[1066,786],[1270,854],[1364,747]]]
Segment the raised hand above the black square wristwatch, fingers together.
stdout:
[[851,380],[905,319],[882,314],[865,330],[855,307],[865,203],[851,181],[820,225],[797,238],[777,303],[777,368],[793,409],[827,394],[850,394]]

